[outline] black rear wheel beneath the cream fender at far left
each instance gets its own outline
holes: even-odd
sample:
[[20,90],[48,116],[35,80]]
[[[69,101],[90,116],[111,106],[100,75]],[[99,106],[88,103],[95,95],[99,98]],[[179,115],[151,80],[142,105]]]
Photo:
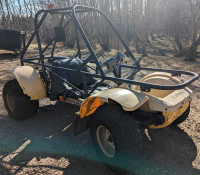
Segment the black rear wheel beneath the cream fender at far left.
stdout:
[[10,117],[22,120],[33,116],[39,109],[38,100],[30,100],[17,80],[7,82],[3,88],[3,100]]

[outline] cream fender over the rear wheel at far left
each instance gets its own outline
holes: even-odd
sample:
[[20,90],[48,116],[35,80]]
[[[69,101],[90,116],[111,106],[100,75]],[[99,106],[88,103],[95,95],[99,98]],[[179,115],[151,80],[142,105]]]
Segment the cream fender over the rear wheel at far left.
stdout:
[[31,97],[31,100],[39,100],[46,97],[45,84],[37,70],[30,66],[20,66],[12,71],[23,93]]

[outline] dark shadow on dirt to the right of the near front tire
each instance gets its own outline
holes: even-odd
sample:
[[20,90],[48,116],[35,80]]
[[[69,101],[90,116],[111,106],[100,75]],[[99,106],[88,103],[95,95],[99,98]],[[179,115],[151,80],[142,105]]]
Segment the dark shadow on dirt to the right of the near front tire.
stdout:
[[[200,175],[192,162],[197,157],[193,140],[179,127],[150,130],[148,147],[149,174]],[[147,173],[147,174],[148,174]]]

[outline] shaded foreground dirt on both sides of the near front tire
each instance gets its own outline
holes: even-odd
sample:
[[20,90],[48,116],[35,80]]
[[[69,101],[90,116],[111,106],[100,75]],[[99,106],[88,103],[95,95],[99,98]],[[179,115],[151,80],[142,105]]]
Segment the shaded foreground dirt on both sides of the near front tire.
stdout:
[[[114,174],[99,162],[89,131],[73,135],[78,108],[57,103],[31,119],[0,119],[0,174]],[[199,174],[196,146],[181,129],[150,131],[144,174]],[[56,160],[56,161],[54,161]]]

